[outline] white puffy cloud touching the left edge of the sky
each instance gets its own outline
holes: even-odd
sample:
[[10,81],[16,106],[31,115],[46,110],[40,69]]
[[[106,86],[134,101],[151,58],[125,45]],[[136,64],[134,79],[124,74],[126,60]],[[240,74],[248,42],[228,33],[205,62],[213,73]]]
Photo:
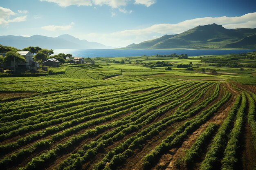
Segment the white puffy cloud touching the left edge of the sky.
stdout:
[[0,7],[0,25],[8,26],[10,22],[22,22],[27,18],[27,15],[25,15],[10,19],[14,15],[17,14],[11,11],[11,9]]

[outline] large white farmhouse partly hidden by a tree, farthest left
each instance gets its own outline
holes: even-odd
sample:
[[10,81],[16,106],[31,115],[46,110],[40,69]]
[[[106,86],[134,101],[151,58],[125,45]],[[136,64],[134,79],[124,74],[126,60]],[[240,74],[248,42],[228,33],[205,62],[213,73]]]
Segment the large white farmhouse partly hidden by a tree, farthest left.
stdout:
[[[27,68],[30,70],[36,70],[35,62],[34,62],[34,55],[29,51],[18,51],[21,56],[25,57],[26,62],[18,62],[16,66],[18,68]],[[14,67],[14,62],[11,62],[11,67]]]

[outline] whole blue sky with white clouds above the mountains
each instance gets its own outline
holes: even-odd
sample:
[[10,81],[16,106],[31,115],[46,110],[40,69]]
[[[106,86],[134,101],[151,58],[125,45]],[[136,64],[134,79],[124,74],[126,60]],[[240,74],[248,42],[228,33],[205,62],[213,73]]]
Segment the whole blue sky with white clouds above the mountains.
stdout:
[[127,46],[198,25],[256,28],[256,0],[0,0],[0,35]]

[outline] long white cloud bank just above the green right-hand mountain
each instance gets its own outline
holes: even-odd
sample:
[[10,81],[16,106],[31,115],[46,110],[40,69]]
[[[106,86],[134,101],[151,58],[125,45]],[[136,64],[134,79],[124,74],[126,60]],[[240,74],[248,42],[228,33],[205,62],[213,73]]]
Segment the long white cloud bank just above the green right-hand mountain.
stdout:
[[114,33],[90,33],[82,38],[111,46],[127,46],[160,37],[164,34],[178,34],[198,25],[220,24],[227,29],[256,28],[256,12],[238,17],[205,17],[185,20],[177,24],[155,24],[144,29],[117,31]]

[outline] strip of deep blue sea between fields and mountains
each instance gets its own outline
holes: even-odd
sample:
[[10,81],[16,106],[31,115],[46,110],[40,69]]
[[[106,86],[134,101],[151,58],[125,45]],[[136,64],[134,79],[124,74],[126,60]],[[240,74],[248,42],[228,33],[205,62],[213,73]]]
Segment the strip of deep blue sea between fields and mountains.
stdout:
[[118,49],[97,49],[97,50],[74,50],[74,49],[55,49],[54,55],[59,53],[72,54],[73,57],[132,57],[142,55],[168,55],[172,53],[197,55],[224,55],[232,53],[253,52],[254,50],[118,50]]

